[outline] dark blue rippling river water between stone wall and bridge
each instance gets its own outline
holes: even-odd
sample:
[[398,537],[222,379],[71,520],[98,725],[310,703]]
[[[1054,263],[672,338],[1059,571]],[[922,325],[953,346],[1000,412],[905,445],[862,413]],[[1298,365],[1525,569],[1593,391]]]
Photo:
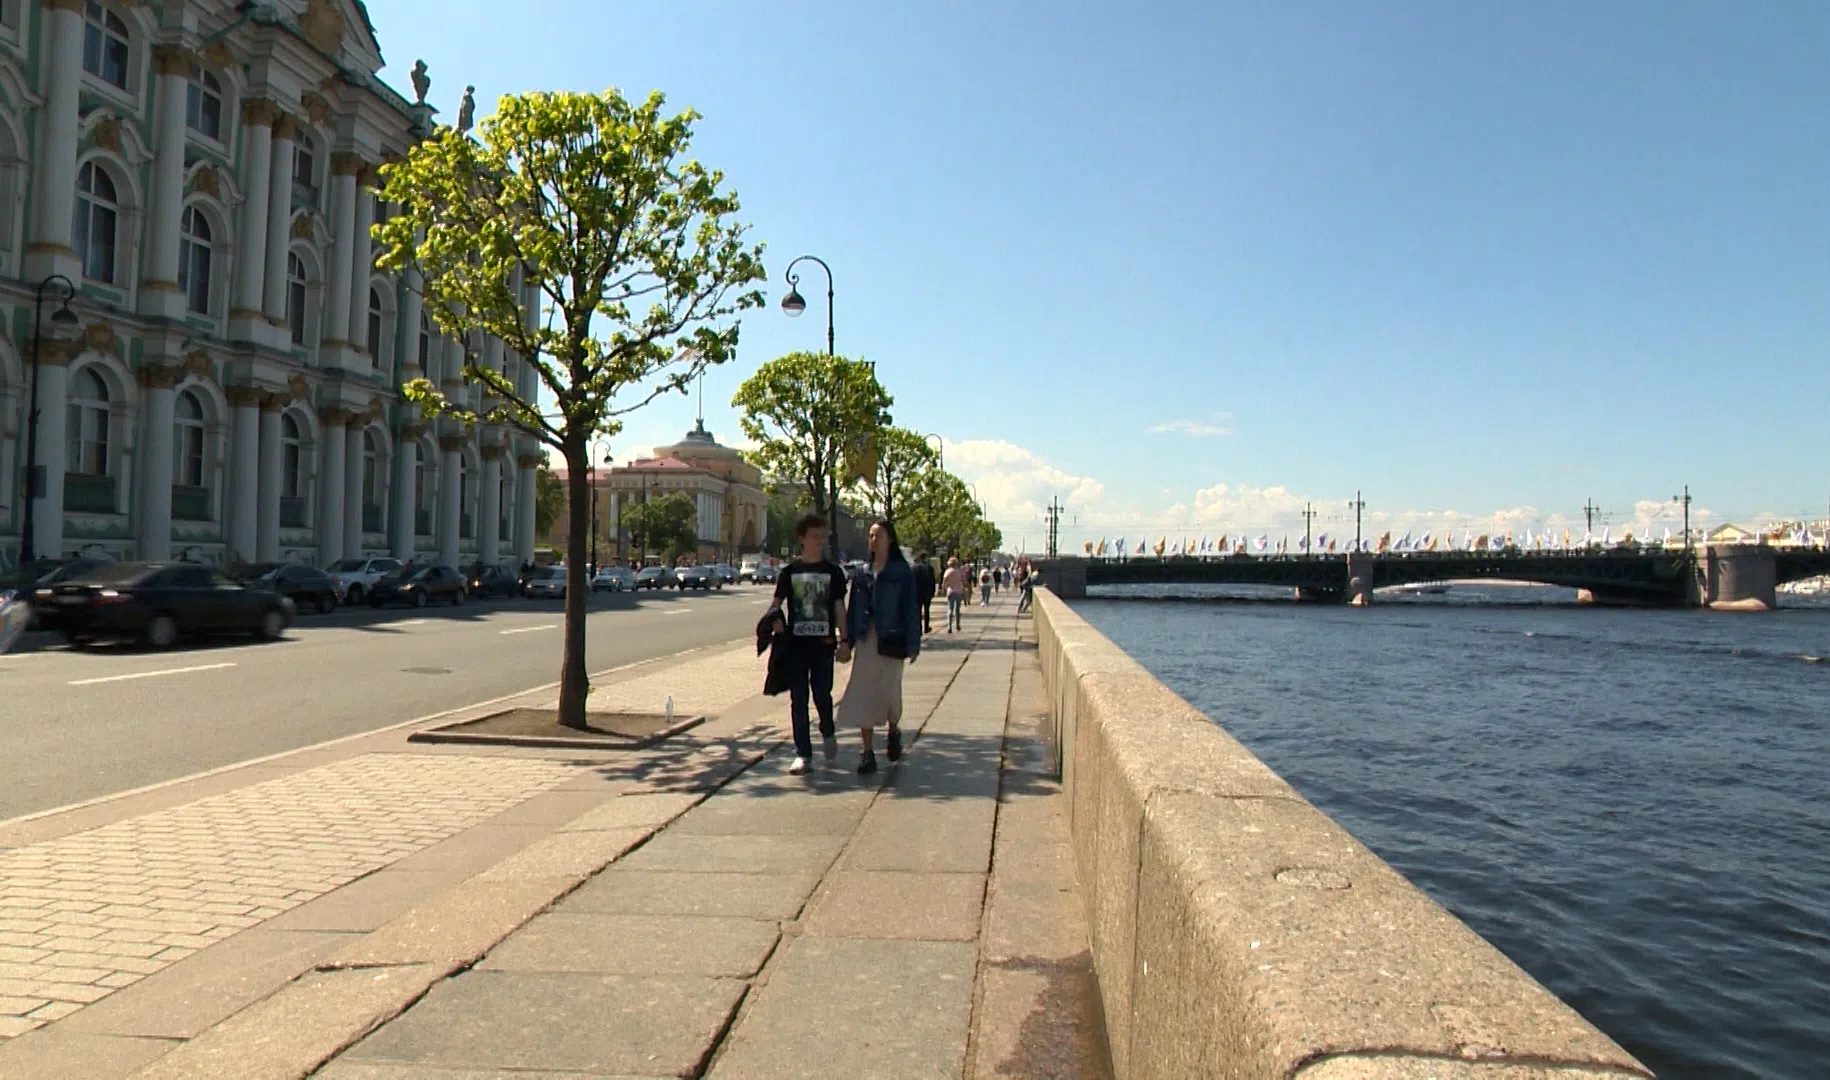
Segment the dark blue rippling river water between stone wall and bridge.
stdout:
[[1830,604],[1222,591],[1074,610],[1660,1076],[1830,1076]]

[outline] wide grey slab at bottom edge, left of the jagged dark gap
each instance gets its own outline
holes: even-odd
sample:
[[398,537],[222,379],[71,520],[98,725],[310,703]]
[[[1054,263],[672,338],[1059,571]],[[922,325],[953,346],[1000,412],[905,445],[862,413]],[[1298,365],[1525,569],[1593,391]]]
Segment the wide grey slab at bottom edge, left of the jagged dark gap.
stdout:
[[743,988],[737,979],[476,970],[434,987],[342,1060],[695,1076]]

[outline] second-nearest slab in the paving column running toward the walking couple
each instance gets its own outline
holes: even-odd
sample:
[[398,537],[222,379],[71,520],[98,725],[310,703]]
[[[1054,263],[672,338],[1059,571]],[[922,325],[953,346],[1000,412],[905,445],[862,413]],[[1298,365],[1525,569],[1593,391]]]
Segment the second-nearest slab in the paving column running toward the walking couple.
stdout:
[[750,977],[781,935],[763,919],[540,915],[478,965],[503,972]]

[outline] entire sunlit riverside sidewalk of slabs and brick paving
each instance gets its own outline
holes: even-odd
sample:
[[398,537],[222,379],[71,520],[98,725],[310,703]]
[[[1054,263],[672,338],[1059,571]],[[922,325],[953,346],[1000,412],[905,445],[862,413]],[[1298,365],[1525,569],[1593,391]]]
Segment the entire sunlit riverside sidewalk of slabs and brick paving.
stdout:
[[0,1075],[1102,1076],[1032,650],[930,637],[873,778],[787,776],[741,646],[602,681],[712,716],[650,751],[377,732],[4,824]]

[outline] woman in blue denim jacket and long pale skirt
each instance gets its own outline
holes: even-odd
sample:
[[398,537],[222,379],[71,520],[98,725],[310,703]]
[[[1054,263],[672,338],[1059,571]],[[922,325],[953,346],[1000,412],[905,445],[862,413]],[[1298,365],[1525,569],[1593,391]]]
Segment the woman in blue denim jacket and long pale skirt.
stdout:
[[889,725],[888,754],[902,756],[902,664],[920,655],[920,613],[915,608],[915,571],[902,558],[897,527],[871,525],[871,562],[853,580],[845,608],[845,641],[838,659],[851,663],[838,714],[858,729],[858,776],[877,772],[873,730]]

